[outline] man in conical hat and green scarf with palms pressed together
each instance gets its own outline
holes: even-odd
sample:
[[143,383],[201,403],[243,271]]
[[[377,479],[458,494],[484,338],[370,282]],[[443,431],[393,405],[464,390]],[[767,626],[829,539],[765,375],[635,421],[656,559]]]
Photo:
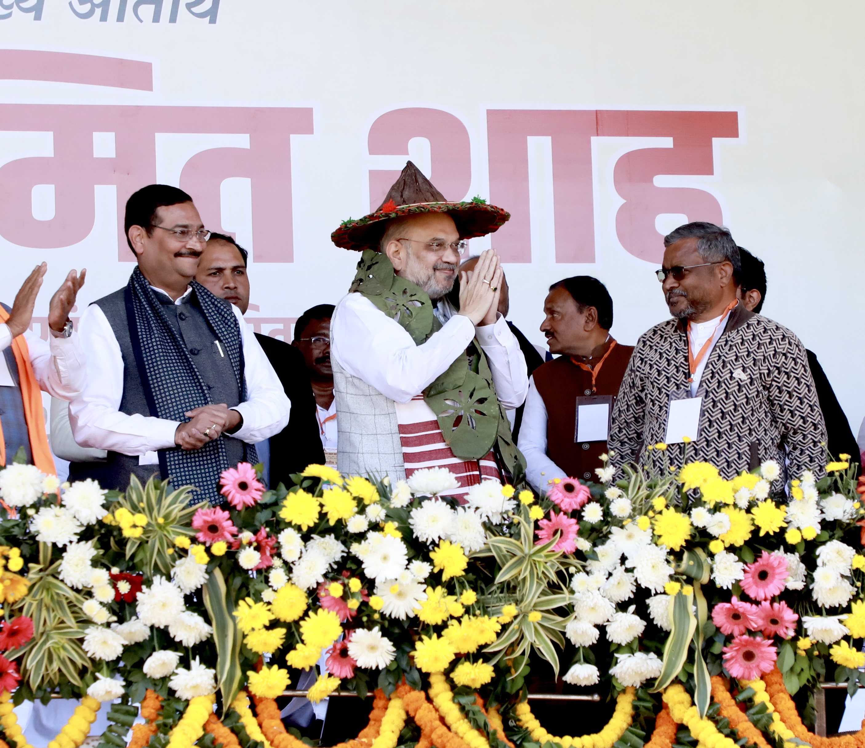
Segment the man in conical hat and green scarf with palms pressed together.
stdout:
[[445,299],[467,240],[509,217],[480,198],[445,200],[408,162],[375,213],[331,234],[362,252],[330,328],[343,473],[395,481],[442,467],[457,476],[444,492],[456,496],[522,477],[504,411],[522,405],[529,378],[497,311],[496,251],[462,274],[458,310]]

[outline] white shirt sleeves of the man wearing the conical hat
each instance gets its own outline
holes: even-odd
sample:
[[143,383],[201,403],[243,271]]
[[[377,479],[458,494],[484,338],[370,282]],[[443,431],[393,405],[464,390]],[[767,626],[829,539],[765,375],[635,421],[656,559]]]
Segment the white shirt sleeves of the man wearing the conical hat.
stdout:
[[490,362],[498,399],[507,409],[521,406],[529,390],[526,360],[504,317],[498,314],[496,323],[476,328],[467,316],[453,314],[449,305],[439,307],[437,316],[446,320],[444,326],[422,345],[415,345],[400,323],[362,294],[349,293],[336,305],[330,323],[330,355],[381,394],[407,403],[465,353],[477,336]]

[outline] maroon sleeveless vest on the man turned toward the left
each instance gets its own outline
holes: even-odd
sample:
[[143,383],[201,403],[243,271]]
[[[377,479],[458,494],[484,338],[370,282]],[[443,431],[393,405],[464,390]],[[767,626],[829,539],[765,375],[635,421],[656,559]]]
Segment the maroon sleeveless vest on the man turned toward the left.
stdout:
[[602,467],[599,458],[606,452],[606,442],[574,442],[577,398],[592,394],[612,395],[615,402],[633,350],[630,345],[616,343],[613,346],[598,371],[594,393],[592,372],[577,366],[568,355],[547,361],[532,374],[547,408],[547,455],[568,476],[596,479],[594,470]]

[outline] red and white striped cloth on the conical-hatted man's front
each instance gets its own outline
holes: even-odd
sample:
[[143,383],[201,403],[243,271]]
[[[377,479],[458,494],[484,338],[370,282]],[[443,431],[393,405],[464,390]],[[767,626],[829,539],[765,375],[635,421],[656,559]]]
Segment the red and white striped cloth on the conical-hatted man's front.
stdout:
[[452,496],[465,495],[470,486],[477,486],[487,478],[502,480],[492,450],[479,460],[463,460],[454,455],[423,395],[416,395],[405,404],[397,403],[396,420],[400,426],[407,478],[421,468],[446,468],[457,476],[459,482],[458,489],[445,491],[446,495]]

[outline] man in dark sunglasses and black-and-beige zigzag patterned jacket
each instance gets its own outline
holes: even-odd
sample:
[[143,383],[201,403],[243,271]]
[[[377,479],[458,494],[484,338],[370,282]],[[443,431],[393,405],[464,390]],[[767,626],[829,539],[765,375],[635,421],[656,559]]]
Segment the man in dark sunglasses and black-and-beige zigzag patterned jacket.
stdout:
[[[664,237],[656,272],[673,319],[640,337],[613,410],[612,463],[706,461],[729,479],[766,460],[780,480],[825,464],[826,429],[805,350],[737,299],[739,249],[697,221]],[[666,444],[665,450],[654,449]]]

